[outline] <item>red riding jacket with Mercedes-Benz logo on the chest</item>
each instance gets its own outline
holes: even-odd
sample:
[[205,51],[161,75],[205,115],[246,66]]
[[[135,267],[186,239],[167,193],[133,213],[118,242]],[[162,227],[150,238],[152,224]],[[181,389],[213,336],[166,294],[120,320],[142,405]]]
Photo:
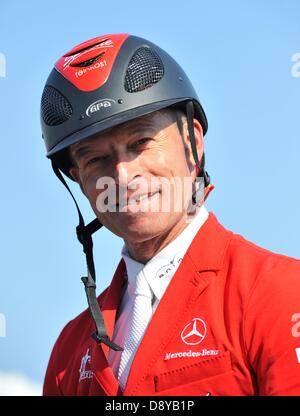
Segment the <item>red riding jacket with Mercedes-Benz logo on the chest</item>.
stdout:
[[[124,267],[99,297],[110,337]],[[45,395],[300,395],[300,261],[257,247],[210,213],[152,317],[123,393],[93,331],[88,310],[64,328]]]

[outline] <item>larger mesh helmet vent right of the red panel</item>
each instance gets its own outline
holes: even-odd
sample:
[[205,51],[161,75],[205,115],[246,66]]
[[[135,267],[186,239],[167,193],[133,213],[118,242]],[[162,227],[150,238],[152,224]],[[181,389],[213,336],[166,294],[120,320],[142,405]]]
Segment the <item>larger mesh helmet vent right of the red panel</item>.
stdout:
[[162,79],[164,66],[158,54],[149,47],[136,50],[127,67],[124,87],[127,92],[138,92],[152,87]]

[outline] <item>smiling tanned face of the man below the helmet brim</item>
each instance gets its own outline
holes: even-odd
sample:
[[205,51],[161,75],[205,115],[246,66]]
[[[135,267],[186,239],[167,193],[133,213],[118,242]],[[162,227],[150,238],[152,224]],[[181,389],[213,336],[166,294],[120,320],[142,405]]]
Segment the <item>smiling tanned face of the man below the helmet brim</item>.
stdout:
[[[197,120],[194,127],[200,159],[202,128]],[[191,195],[184,178],[194,181],[196,173],[186,123],[181,135],[171,110],[76,143],[71,155],[70,173],[98,219],[125,241],[141,243],[186,221]]]

